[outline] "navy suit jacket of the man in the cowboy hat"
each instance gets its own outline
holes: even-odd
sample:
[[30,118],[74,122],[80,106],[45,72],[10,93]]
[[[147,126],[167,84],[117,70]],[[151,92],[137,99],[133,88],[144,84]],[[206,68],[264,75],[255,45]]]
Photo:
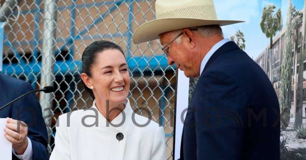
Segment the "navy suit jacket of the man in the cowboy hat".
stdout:
[[279,159],[279,123],[267,75],[227,42],[199,78],[184,123],[181,159]]

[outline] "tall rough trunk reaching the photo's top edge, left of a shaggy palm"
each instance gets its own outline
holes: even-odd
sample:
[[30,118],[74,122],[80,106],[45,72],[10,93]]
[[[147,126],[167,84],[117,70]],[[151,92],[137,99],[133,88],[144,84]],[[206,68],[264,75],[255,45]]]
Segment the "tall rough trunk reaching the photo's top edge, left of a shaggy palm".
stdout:
[[279,106],[281,108],[281,128],[286,129],[290,121],[291,109],[291,75],[292,75],[292,57],[291,57],[291,0],[288,3],[286,33],[284,42],[284,58],[281,66],[281,81],[279,82]]

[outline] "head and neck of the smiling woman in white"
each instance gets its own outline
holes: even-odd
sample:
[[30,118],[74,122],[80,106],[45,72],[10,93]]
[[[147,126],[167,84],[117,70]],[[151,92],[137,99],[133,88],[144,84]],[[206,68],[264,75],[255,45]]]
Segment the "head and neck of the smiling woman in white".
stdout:
[[124,109],[122,102],[126,100],[130,90],[130,75],[122,49],[109,41],[96,41],[90,44],[82,56],[82,80],[87,91],[95,99],[98,110],[109,121],[120,114],[119,110],[107,115],[109,106]]

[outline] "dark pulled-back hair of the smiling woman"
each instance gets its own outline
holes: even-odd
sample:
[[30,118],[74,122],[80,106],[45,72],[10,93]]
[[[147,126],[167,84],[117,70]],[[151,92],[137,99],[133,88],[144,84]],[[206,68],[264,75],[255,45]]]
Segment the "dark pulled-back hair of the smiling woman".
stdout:
[[[104,41],[104,40],[92,42],[91,44],[89,44],[89,46],[85,48],[83,55],[82,55],[82,73],[86,73],[89,77],[91,77],[92,76],[91,68],[93,64],[95,63],[96,55],[107,49],[118,49],[124,56],[123,50],[121,49],[121,47],[113,42]],[[92,90],[89,89],[83,81],[82,83],[83,83],[85,90],[89,92],[91,98],[94,99],[95,97],[93,95]]]

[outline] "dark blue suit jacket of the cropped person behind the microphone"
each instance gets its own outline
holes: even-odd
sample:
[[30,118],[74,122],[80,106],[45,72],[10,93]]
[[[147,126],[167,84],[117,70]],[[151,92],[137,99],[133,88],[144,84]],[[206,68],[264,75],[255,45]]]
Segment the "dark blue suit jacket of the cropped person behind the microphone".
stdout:
[[[0,73],[0,106],[31,90],[33,88],[28,82]],[[49,159],[47,130],[35,93],[25,96],[0,111],[0,118],[6,117],[21,120],[28,125],[28,137],[32,142],[33,159]],[[18,158],[13,154],[13,159]]]

